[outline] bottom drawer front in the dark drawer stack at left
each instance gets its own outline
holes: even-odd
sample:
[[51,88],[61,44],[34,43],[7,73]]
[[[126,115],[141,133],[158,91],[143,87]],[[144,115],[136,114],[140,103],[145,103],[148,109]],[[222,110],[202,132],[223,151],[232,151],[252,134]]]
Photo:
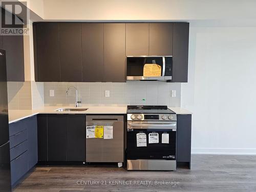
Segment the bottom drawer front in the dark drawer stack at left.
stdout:
[[28,172],[28,151],[11,161],[12,185]]

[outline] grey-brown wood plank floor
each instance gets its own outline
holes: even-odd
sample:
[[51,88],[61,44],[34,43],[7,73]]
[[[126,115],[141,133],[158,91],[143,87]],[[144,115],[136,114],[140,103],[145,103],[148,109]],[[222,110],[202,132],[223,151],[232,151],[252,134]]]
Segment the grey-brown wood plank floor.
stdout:
[[[77,181],[106,181],[106,184],[78,185]],[[115,184],[109,181],[127,182]],[[156,184],[155,181],[179,184]],[[256,156],[193,155],[191,170],[178,168],[176,172],[128,172],[110,165],[40,166],[14,191],[256,191]]]

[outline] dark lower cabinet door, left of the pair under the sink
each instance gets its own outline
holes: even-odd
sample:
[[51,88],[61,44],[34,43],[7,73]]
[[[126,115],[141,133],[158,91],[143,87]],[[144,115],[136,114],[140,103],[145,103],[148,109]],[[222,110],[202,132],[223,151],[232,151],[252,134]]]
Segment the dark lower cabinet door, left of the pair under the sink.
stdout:
[[67,115],[48,115],[48,161],[67,161]]

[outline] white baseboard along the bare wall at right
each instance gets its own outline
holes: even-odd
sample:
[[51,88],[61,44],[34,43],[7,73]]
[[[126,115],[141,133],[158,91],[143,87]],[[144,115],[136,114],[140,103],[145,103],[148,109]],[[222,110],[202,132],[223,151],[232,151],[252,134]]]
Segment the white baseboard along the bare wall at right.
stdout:
[[191,148],[191,154],[256,155],[256,148]]

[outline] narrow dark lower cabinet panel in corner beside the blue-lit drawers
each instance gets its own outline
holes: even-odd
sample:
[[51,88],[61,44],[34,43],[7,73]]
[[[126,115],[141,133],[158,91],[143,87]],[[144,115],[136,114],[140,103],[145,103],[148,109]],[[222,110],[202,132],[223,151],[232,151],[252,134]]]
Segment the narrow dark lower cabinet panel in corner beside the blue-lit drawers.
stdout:
[[48,161],[47,115],[37,115],[38,161]]

